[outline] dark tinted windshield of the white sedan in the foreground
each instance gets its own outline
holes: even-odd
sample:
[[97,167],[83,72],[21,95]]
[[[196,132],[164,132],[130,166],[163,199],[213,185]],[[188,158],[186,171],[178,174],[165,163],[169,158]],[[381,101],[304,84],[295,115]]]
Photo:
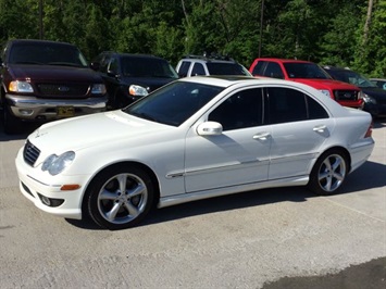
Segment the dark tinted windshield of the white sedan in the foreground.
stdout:
[[223,89],[210,85],[174,81],[123,111],[149,121],[179,126]]

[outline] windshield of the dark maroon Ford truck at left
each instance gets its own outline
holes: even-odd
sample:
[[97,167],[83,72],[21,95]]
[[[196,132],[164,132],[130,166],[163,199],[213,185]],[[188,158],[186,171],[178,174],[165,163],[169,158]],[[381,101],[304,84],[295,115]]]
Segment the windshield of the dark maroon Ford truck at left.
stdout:
[[14,43],[10,51],[9,63],[87,66],[85,56],[76,47],[50,42]]

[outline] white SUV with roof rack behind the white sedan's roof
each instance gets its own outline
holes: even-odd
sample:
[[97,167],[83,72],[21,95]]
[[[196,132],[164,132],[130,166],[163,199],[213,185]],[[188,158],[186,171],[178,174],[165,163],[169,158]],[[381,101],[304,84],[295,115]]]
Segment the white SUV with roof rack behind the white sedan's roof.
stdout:
[[186,55],[178,61],[179,77],[197,75],[244,75],[251,76],[246,67],[232,58],[215,55]]

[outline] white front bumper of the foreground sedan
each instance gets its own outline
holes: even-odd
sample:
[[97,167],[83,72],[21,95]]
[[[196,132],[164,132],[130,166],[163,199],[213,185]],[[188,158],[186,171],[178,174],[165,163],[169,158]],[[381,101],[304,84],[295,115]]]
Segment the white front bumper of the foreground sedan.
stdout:
[[[82,219],[82,201],[89,176],[50,176],[40,167],[32,167],[24,162],[23,148],[17,153],[15,164],[20,190],[38,209],[57,216]],[[80,188],[63,191],[61,187],[65,184],[78,184]],[[47,200],[52,200],[53,204],[48,205]]]

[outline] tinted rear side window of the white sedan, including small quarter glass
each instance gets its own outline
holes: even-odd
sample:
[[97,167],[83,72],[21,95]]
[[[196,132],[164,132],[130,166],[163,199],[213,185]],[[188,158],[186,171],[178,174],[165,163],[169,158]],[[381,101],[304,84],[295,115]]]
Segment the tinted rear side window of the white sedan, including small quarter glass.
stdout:
[[303,92],[288,88],[267,88],[271,124],[327,118],[324,108]]

